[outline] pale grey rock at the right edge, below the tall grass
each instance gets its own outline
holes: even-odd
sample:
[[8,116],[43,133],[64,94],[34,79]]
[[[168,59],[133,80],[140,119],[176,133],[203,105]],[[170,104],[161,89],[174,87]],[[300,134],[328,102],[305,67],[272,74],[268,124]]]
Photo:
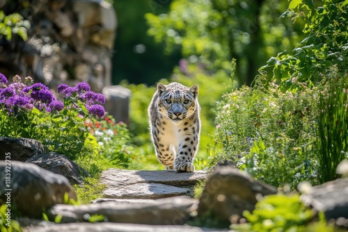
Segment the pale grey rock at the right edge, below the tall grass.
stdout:
[[327,220],[348,218],[348,179],[337,179],[311,188],[301,195],[301,201],[317,212],[325,213]]

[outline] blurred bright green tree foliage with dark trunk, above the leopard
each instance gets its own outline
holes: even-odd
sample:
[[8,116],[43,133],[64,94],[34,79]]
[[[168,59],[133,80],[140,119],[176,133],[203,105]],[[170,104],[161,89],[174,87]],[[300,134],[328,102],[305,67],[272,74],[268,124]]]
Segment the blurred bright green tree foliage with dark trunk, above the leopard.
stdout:
[[207,69],[224,69],[237,59],[239,84],[250,84],[256,70],[276,51],[292,49],[300,38],[288,19],[279,19],[286,1],[175,0],[170,11],[145,18],[148,34],[171,53],[199,59]]

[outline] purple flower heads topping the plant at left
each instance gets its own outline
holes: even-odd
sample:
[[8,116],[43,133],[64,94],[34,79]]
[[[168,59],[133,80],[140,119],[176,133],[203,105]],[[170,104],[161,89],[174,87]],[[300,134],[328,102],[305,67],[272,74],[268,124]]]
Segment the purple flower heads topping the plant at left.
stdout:
[[[26,82],[30,84],[31,81],[30,77],[26,77]],[[0,73],[0,108],[6,108],[8,113],[32,110],[34,107],[49,113],[56,113],[64,108],[64,104],[58,101],[49,88],[42,83],[26,86],[19,76],[15,76],[10,85],[7,83],[6,76]],[[77,103],[79,101],[85,104],[90,115],[104,116],[104,108],[95,102],[105,103],[105,97],[103,94],[90,91],[88,83],[77,83],[74,87],[61,84],[57,90],[58,93],[63,93],[65,98],[73,97],[73,105],[67,107],[79,108],[81,106]]]

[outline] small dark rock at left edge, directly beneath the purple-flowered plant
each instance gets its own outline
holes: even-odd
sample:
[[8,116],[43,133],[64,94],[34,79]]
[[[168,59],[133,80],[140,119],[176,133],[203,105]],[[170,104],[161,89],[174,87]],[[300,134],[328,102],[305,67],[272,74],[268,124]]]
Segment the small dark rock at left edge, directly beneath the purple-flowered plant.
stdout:
[[45,147],[38,140],[0,137],[0,160],[6,160],[5,156],[10,154],[10,160],[24,162],[31,156],[44,152]]

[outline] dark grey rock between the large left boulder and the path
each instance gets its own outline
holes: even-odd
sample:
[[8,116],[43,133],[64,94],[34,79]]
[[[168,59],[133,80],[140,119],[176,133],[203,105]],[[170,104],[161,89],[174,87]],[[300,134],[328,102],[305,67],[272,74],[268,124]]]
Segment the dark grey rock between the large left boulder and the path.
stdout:
[[49,172],[61,174],[68,178],[72,185],[81,184],[83,176],[88,176],[88,172],[85,169],[82,169],[70,158],[61,154],[37,154],[25,162],[34,163]]

